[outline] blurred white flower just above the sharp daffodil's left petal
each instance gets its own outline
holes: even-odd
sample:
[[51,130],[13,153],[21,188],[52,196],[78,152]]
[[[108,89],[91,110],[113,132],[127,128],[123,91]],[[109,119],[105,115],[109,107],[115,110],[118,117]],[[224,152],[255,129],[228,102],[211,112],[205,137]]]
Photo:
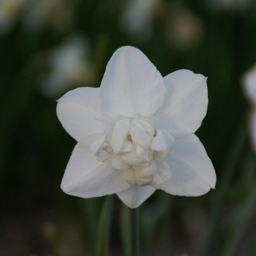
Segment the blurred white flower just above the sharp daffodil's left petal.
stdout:
[[49,53],[50,72],[42,78],[41,91],[47,96],[59,96],[70,87],[94,82],[94,68],[90,62],[89,43],[72,36]]

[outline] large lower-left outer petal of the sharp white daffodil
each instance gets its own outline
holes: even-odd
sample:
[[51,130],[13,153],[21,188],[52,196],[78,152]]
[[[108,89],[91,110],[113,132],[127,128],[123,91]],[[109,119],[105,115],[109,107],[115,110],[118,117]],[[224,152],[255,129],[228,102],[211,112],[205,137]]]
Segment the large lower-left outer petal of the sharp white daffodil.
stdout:
[[65,193],[88,198],[113,194],[129,187],[123,172],[113,170],[111,163],[97,161],[89,150],[97,136],[89,135],[76,144],[61,182]]

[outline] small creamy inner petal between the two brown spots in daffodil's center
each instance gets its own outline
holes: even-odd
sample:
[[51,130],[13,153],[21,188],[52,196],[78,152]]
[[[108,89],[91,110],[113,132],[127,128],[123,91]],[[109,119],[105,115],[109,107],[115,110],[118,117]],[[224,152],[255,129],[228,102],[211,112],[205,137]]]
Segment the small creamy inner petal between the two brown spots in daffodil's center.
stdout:
[[132,136],[132,140],[136,144],[139,144],[145,149],[150,147],[153,137],[149,135],[145,130],[131,126],[129,133]]

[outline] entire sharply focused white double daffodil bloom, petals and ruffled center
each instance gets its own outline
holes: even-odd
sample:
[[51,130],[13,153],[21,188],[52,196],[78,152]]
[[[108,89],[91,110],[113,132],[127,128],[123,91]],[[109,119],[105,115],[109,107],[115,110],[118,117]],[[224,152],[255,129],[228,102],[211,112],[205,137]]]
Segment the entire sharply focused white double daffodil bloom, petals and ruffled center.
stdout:
[[61,188],[84,198],[117,193],[131,208],[156,189],[207,193],[216,175],[193,134],[207,103],[203,75],[182,69],[162,78],[139,49],[119,48],[100,88],[77,88],[58,100],[57,116],[78,141]]

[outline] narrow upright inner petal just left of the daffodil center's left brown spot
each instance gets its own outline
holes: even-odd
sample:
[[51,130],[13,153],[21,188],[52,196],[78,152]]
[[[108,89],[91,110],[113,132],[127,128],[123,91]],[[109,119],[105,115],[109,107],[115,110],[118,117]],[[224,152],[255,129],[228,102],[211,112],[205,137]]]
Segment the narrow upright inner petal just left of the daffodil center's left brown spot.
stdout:
[[118,154],[123,147],[124,139],[127,137],[129,129],[130,125],[128,118],[116,122],[111,138],[111,146],[115,154]]

